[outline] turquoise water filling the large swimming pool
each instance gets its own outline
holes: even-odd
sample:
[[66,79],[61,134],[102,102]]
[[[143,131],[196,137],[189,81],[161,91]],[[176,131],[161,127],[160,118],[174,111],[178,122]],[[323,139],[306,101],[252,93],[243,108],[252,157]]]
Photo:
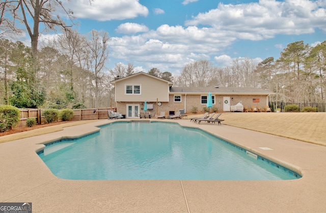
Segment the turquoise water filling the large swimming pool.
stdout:
[[300,176],[196,128],[116,122],[39,153],[71,180],[289,180]]

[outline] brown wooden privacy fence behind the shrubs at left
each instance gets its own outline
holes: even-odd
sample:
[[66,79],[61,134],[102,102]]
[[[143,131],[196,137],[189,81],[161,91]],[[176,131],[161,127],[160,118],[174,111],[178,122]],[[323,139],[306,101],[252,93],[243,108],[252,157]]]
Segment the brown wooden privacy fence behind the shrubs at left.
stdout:
[[[20,120],[15,129],[26,127],[26,121],[28,118],[35,118],[37,124],[46,123],[42,112],[46,109],[20,109]],[[117,112],[117,108],[101,108],[101,109],[75,109],[73,110],[74,116],[72,121],[80,120],[95,120],[95,119],[106,119],[107,111]],[[61,120],[59,120],[61,121]]]

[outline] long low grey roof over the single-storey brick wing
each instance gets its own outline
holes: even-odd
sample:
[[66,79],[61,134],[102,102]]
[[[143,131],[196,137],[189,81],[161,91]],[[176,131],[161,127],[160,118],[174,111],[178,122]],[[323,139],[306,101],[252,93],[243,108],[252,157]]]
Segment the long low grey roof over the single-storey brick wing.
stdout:
[[260,88],[234,88],[234,87],[171,87],[170,94],[204,94],[211,92],[216,95],[269,95],[274,94]]

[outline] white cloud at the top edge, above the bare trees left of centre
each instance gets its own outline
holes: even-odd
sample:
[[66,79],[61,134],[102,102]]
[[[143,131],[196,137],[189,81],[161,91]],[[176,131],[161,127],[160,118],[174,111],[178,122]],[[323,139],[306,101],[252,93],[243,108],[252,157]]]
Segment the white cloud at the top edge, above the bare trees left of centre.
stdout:
[[95,0],[91,4],[86,0],[64,1],[66,8],[73,9],[77,18],[88,18],[98,21],[123,20],[138,16],[147,16],[148,9],[139,0]]

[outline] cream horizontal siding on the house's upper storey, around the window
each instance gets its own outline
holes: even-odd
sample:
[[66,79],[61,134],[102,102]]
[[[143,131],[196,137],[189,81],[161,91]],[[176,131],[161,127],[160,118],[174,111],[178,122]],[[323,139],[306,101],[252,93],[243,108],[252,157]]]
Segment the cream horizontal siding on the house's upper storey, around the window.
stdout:
[[[126,85],[141,85],[141,94],[126,94]],[[146,75],[139,75],[116,83],[116,101],[169,101],[169,85],[167,82],[151,78]]]

